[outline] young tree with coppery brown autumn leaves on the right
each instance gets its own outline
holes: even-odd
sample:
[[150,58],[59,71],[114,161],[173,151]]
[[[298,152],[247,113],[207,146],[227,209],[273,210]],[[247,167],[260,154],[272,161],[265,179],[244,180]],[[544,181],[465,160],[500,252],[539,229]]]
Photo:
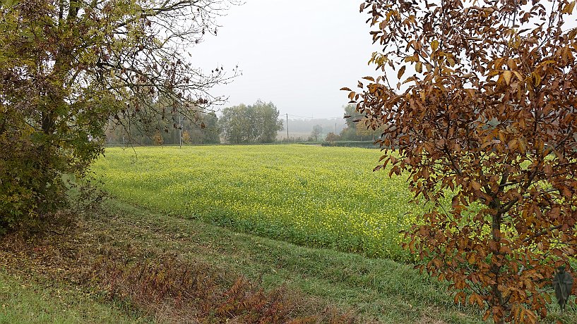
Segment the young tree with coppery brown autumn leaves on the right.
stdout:
[[415,198],[432,206],[405,246],[450,282],[455,301],[495,323],[545,317],[554,270],[577,253],[577,30],[565,23],[575,6],[361,5],[383,75],[343,89],[364,123],[383,129],[376,169],[408,176]]

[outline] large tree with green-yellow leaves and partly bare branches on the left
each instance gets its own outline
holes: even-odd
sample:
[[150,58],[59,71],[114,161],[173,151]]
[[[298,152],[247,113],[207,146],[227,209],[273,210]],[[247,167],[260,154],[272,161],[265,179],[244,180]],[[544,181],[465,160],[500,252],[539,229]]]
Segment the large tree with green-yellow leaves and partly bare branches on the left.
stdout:
[[[227,76],[186,49],[216,34],[225,0],[19,0],[0,6],[0,228],[66,201],[62,175],[102,153],[109,118],[148,125],[221,98]],[[236,74],[236,72],[233,73]]]

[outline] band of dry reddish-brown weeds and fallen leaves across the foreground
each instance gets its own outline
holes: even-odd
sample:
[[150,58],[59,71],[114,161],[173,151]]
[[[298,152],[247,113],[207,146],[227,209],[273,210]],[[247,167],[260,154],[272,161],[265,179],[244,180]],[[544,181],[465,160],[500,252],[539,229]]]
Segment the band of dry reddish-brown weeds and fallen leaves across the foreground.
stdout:
[[[66,228],[72,228],[69,224]],[[28,280],[64,282],[94,298],[122,301],[127,310],[160,323],[360,323],[358,316],[322,306],[285,287],[191,263],[111,239],[90,220],[61,235],[0,239],[0,268]],[[50,285],[50,284],[49,284]]]

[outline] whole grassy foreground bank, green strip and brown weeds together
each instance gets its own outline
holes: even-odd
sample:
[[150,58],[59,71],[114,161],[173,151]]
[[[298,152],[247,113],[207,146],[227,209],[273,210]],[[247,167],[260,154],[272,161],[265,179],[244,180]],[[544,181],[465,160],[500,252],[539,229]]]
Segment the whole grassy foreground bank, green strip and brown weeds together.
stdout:
[[[299,247],[116,199],[68,235],[8,239],[0,249],[0,304],[11,323],[254,323],[242,320],[247,311],[222,311],[234,296],[233,306],[283,305],[286,320],[263,323],[483,323],[477,310],[456,306],[444,284],[411,266]],[[202,280],[186,281],[184,290],[172,285],[186,276]],[[577,323],[574,304],[562,316],[552,306],[542,323],[556,320]]]

